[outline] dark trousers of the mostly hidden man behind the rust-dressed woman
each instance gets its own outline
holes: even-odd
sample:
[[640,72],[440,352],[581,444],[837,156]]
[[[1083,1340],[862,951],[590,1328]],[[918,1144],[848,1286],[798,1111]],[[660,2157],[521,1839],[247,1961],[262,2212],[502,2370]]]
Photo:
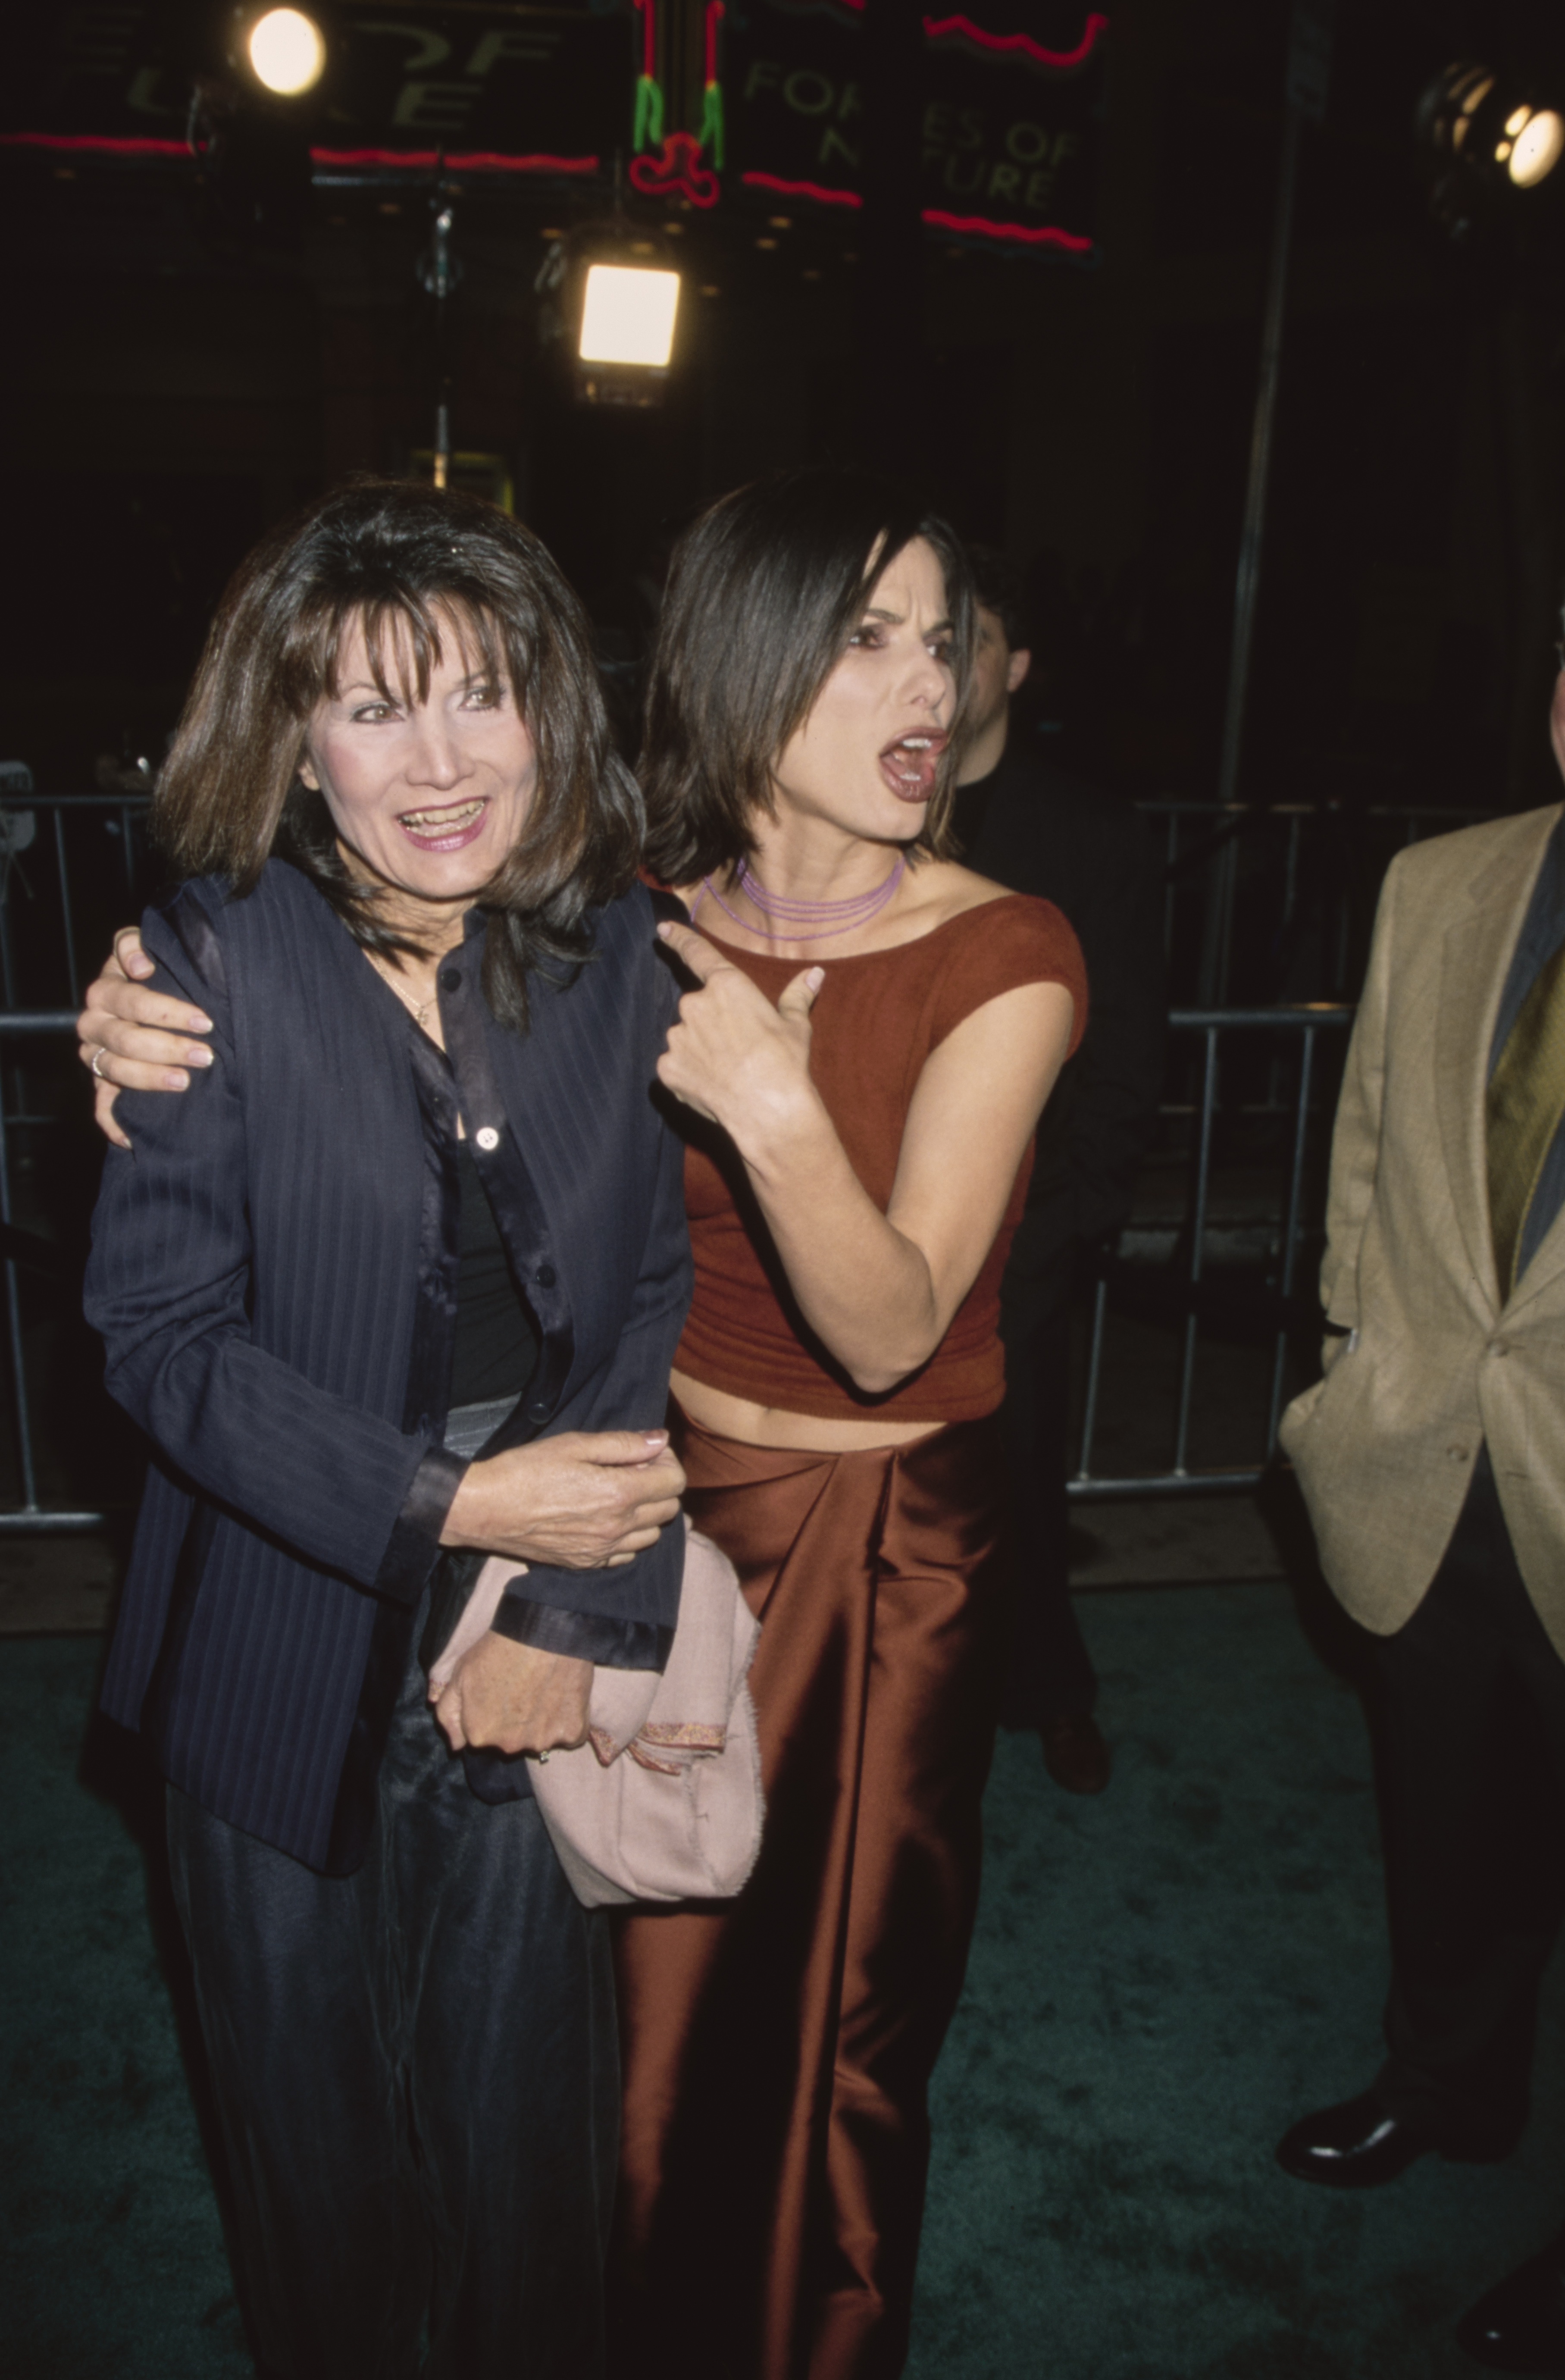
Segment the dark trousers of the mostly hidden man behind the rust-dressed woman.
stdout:
[[1096,1673],[1070,1606],[1070,1297],[1061,1292],[1023,1333],[1006,1328],[999,1414],[1008,1473],[1011,1649],[1001,1721],[1037,1728],[1089,1711]]

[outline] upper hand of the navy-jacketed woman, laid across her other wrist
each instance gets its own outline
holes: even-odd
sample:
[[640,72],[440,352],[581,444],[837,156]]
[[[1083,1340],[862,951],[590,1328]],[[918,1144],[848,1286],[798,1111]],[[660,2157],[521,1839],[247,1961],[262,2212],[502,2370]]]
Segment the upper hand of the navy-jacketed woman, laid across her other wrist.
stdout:
[[656,1545],[683,1490],[668,1430],[561,1430],[469,1464],[440,1542],[602,1571]]

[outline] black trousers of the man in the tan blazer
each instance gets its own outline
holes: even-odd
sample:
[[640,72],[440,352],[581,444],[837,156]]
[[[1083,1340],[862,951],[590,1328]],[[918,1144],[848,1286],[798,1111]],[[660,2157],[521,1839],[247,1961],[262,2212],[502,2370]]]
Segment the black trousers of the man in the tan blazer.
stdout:
[[1377,1668],[1394,1978],[1377,2090],[1391,2113],[1503,2154],[1527,2121],[1565,1904],[1565,1661],[1515,1566],[1487,1449]]

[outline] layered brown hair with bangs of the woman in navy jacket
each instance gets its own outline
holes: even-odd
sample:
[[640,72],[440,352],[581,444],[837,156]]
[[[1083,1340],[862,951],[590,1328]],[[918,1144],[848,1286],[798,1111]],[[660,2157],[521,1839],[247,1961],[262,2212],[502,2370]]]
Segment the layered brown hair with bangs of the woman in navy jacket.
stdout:
[[457,640],[473,671],[509,685],[533,735],[538,790],[521,838],[476,895],[490,914],[483,990],[521,1031],[528,969],[580,964],[590,909],[633,881],[642,814],[609,743],[583,607],[538,538],[495,505],[357,481],[274,528],[212,621],[157,781],[157,840],[181,873],[226,876],[235,897],[276,852],[364,950],[411,947],[342,859],[323,797],[300,781],[309,721],[335,695],[354,621],[388,700],[423,702],[445,643]]

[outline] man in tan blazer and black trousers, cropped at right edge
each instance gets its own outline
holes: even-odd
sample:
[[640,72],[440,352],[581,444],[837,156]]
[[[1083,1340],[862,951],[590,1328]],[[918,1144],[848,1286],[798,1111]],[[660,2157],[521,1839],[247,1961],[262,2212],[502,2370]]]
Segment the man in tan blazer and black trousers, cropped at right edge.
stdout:
[[[1553,743],[1565,771],[1565,676]],[[1375,2085],[1277,2149],[1315,2182],[1501,2159],[1527,2116],[1565,1890],[1560,821],[1399,854],[1337,1111],[1327,1371],[1282,1445],[1325,1576],[1379,1640],[1391,1994]],[[1565,2235],[1458,2340],[1565,2370]]]

